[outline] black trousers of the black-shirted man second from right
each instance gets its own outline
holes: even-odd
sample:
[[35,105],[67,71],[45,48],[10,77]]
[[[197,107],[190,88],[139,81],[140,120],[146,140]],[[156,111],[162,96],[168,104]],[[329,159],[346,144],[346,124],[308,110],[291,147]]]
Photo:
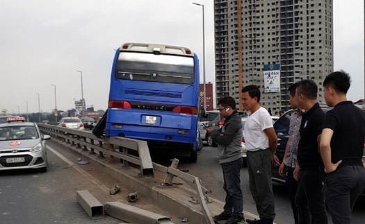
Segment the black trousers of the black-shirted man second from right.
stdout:
[[327,224],[324,171],[321,166],[300,169],[299,187],[295,195],[299,224]]

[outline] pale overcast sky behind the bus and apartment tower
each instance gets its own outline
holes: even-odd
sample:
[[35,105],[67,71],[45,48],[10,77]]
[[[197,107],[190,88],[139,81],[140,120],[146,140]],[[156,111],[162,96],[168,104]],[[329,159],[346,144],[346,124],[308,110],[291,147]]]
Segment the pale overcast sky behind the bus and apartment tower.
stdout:
[[[125,42],[188,46],[200,58],[205,18],[206,82],[214,83],[213,0],[0,0],[0,110],[106,110],[115,50]],[[348,99],[364,98],[364,1],[333,0],[334,71],[352,78]],[[56,85],[56,102],[54,94]],[[38,104],[38,94],[40,104]]]

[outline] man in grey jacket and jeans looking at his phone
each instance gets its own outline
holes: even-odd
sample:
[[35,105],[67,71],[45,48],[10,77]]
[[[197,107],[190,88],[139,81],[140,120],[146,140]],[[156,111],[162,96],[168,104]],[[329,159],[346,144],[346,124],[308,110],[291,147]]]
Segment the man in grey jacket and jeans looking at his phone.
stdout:
[[234,98],[226,96],[218,101],[218,110],[225,118],[225,124],[220,130],[207,128],[213,141],[218,144],[219,163],[222,166],[226,192],[223,212],[214,216],[215,221],[226,221],[225,224],[236,224],[245,221],[243,218],[243,195],[241,191],[242,135],[241,117],[236,111]]

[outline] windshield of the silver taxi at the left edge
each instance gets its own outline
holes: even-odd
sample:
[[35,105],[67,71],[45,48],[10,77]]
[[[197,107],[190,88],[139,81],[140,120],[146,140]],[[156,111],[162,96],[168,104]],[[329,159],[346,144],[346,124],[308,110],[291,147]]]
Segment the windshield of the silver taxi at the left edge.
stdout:
[[6,126],[0,128],[0,141],[13,139],[38,139],[35,126]]

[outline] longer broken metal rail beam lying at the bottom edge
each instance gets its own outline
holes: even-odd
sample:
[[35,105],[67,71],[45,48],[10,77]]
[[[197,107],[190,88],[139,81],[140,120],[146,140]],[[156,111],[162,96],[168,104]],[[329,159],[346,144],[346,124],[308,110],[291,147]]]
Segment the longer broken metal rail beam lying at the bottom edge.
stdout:
[[167,216],[140,209],[120,202],[105,203],[105,214],[128,223],[174,224]]

